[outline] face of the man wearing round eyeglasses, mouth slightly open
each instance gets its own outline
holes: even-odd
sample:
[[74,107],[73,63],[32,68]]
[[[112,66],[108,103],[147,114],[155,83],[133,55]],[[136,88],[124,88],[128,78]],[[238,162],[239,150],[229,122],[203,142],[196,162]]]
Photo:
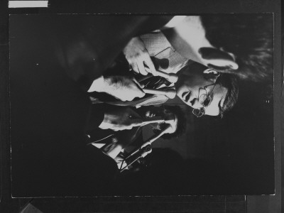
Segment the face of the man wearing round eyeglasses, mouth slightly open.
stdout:
[[212,102],[208,107],[204,107],[204,114],[217,116],[219,115],[219,106],[223,107],[228,90],[220,84],[216,84],[214,87],[214,80],[206,80],[203,74],[205,69],[206,67],[197,63],[182,68],[178,82],[175,84],[177,95],[188,106],[200,109],[202,107],[200,96],[205,94],[205,89],[207,94],[211,94],[213,91]]

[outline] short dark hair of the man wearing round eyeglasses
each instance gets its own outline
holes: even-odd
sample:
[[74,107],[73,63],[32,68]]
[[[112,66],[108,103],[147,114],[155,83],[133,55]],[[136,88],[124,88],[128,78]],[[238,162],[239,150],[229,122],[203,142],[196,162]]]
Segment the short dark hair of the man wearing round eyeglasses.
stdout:
[[229,73],[221,73],[216,80],[216,84],[220,84],[222,87],[228,89],[228,92],[226,93],[226,97],[224,99],[223,107],[219,106],[219,116],[220,118],[222,118],[224,113],[230,111],[236,104],[236,101],[239,97],[239,84],[236,77]]

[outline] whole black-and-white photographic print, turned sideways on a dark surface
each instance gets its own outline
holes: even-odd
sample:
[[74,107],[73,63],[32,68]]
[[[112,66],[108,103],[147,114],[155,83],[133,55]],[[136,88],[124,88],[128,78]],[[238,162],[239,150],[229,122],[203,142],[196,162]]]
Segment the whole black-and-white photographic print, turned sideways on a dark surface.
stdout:
[[273,13],[10,15],[12,197],[273,195]]

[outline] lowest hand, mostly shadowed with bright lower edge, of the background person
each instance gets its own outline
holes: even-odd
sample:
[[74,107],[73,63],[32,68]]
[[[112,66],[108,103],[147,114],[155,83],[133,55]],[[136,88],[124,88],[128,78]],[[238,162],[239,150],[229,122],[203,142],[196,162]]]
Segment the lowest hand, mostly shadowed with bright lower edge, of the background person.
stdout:
[[132,129],[134,126],[142,125],[141,116],[129,107],[123,107],[104,113],[104,120],[99,125],[100,129],[112,129],[121,131],[124,129]]

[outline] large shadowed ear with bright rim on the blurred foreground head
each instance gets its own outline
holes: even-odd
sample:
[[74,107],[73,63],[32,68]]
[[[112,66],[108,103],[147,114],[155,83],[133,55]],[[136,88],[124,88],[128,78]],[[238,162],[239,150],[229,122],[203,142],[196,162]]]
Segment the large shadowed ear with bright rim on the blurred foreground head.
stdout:
[[231,69],[237,70],[239,65],[234,60],[234,55],[224,50],[216,48],[200,48],[198,50],[203,60],[210,67],[216,67],[218,70]]

